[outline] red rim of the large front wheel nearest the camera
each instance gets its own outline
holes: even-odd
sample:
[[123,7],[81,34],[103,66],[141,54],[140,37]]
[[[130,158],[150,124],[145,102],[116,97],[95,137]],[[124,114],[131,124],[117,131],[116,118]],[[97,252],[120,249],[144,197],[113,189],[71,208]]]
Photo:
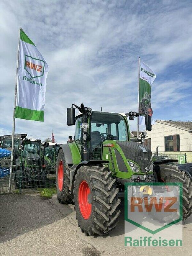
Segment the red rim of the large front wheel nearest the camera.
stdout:
[[92,204],[88,201],[90,195],[90,188],[87,182],[84,180],[79,185],[79,209],[85,220],[89,219],[91,215]]

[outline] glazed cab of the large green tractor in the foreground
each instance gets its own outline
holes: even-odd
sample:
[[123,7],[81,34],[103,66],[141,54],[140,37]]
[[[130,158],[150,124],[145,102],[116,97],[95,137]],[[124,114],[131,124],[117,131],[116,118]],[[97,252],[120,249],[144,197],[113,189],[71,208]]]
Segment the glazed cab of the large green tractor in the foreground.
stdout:
[[87,137],[92,159],[102,159],[102,146],[105,141],[129,140],[125,114],[92,111],[84,134],[82,134],[82,118],[83,115],[76,116],[75,141],[80,147]]

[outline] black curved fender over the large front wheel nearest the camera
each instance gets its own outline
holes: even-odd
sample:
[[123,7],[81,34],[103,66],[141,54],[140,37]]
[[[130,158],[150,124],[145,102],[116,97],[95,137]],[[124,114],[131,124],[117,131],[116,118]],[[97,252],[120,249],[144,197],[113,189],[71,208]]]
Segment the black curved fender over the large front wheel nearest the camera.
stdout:
[[103,160],[89,160],[89,161],[82,161],[80,164],[76,165],[75,168],[72,168],[70,171],[70,184],[69,184],[69,189],[71,190],[71,196],[73,198],[73,183],[75,180],[75,175],[78,171],[78,169],[83,166],[83,165],[97,165],[97,164],[107,164],[108,165],[109,161],[103,161]]

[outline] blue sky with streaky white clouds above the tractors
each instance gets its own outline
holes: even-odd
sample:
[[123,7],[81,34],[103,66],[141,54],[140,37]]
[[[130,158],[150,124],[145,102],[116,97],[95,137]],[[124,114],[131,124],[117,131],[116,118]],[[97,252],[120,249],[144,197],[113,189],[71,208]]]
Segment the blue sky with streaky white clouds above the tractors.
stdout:
[[[137,110],[138,57],[156,74],[154,120],[192,121],[192,2],[0,1],[0,135],[12,133],[19,28],[49,66],[44,122],[16,118],[15,133],[58,143],[74,135],[71,104]],[[136,130],[137,121],[129,121]],[[140,130],[145,130],[144,126]]]

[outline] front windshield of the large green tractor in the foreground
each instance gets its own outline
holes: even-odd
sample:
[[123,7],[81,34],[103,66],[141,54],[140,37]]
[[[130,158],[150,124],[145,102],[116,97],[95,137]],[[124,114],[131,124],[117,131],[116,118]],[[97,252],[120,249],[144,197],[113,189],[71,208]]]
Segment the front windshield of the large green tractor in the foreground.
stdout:
[[128,140],[127,126],[120,114],[93,112],[91,117],[91,149],[97,148],[104,139]]

